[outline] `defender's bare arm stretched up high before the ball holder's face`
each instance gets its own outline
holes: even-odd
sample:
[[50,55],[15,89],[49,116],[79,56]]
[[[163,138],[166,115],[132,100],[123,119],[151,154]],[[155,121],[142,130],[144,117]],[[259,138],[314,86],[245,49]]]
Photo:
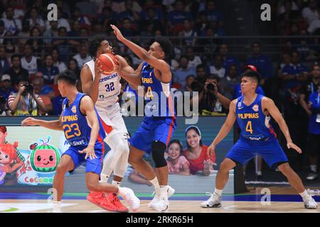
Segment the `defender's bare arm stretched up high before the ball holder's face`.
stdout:
[[[134,54],[137,55],[140,59],[148,62],[149,65],[159,70],[162,75],[171,75],[170,66],[164,60],[151,56],[148,51],[144,50],[144,48],[140,47],[130,40],[127,40],[127,38],[124,38],[121,31],[119,31],[119,28],[117,28],[116,26],[111,25],[111,28],[114,31],[114,35],[117,36],[117,39],[124,45],[127,45],[127,47],[132,50],[132,52],[134,52]],[[164,78],[163,80],[164,81],[161,82],[170,82],[171,78]]]

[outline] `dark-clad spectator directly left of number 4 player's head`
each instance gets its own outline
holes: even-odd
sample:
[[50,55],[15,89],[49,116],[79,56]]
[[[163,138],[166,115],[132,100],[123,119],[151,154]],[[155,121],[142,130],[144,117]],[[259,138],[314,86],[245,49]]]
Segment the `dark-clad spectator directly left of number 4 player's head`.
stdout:
[[237,65],[230,65],[228,74],[220,79],[219,89],[228,99],[233,100],[233,94],[239,83]]

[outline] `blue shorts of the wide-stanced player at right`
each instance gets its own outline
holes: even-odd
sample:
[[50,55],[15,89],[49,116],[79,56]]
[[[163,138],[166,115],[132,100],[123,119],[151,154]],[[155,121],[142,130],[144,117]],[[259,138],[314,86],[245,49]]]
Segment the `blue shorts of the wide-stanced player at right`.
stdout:
[[277,138],[274,137],[265,141],[247,140],[240,137],[225,157],[245,165],[255,155],[261,155],[273,170],[279,164],[288,162],[287,155],[284,153]]

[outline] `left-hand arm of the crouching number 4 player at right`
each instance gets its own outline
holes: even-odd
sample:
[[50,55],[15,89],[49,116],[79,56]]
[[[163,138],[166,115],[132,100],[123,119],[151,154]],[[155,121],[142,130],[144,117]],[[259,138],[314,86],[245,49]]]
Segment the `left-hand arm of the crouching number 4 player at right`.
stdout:
[[208,155],[210,157],[213,156],[213,153],[215,151],[215,146],[218,145],[218,143],[221,142],[225,138],[225,136],[228,135],[231,128],[233,128],[233,124],[235,123],[236,116],[235,116],[235,105],[237,103],[237,99],[231,101],[229,106],[229,114],[227,116],[227,119],[225,120],[225,123],[223,123],[223,126],[221,127],[219,133],[217,136],[215,136],[215,139],[211,143],[211,145],[208,148]]

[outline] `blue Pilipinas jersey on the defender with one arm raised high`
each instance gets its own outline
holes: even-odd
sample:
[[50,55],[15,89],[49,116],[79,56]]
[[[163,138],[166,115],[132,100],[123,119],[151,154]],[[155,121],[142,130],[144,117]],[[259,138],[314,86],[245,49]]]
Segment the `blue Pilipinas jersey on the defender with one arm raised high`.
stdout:
[[154,75],[154,68],[147,62],[142,65],[142,86],[144,87],[145,116],[174,117],[174,100],[171,94],[171,82],[161,83]]

